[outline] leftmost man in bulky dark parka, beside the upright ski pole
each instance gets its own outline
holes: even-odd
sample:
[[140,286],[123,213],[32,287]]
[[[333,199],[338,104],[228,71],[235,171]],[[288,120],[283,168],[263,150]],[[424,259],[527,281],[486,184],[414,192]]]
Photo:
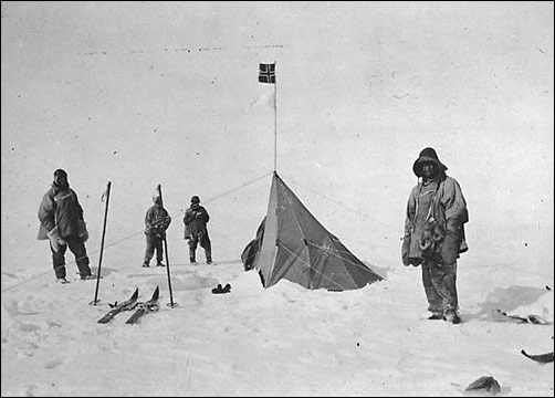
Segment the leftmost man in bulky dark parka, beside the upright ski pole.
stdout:
[[65,251],[67,247],[75,256],[82,280],[95,276],[88,266],[85,242],[88,239],[86,223],[83,218],[77,193],[70,188],[67,172],[63,169],[54,171],[51,188],[43,195],[39,207],[39,240],[50,240],[52,263],[57,282],[67,283],[65,279]]

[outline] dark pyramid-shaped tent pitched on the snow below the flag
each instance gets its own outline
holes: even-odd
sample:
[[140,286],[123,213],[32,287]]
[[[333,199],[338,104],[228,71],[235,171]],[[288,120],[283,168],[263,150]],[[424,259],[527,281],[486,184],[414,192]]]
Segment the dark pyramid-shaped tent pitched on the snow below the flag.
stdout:
[[274,171],[266,217],[241,255],[264,287],[286,279],[306,289],[344,291],[383,280],[306,209]]

